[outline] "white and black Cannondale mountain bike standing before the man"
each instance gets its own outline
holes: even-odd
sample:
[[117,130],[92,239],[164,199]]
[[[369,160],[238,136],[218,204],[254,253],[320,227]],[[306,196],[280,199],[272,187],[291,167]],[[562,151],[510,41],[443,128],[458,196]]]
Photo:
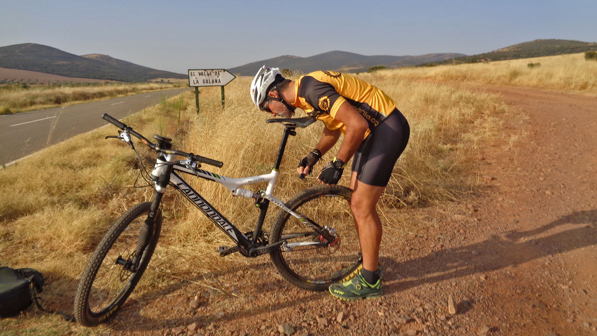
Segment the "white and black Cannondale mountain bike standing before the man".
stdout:
[[[201,164],[221,167],[223,163],[174,150],[172,139],[165,136],[154,135],[156,143],[152,143],[110,115],[104,114],[102,118],[121,130],[118,136],[106,139],[120,139],[137,152],[131,138],[134,136],[157,154],[153,169],[147,172],[147,181],[155,194],[151,202],[136,204],[118,218],[91,255],[75,295],[75,317],[82,325],[95,326],[113,316],[143,276],[158,243],[162,196],[168,186],[183,194],[235,243],[232,247],[218,248],[220,256],[239,252],[255,258],[269,253],[282,277],[299,288],[324,291],[330,283],[340,281],[361,264],[355,219],[350,210],[352,190],[338,185],[317,185],[286,203],[273,196],[289,136],[295,136],[297,127],[307,127],[315,118],[267,120],[266,123],[284,126],[278,155],[270,173],[246,178],[229,178],[202,170]],[[137,156],[141,160],[139,153]],[[182,159],[177,160],[179,157]],[[184,181],[181,173],[217,182],[230,190],[232,196],[253,200],[259,209],[254,230],[241,232]],[[253,192],[241,188],[265,181],[266,190]],[[280,210],[267,234],[262,229],[270,203]]]

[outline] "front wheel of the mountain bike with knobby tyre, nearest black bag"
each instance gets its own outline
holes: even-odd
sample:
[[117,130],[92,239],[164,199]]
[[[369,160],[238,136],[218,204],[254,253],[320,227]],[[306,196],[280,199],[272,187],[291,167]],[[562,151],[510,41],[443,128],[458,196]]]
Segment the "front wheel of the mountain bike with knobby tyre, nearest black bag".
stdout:
[[[124,270],[121,265],[116,264],[115,258],[118,255],[128,260],[132,258],[140,229],[147,218],[150,206],[150,202],[139,203],[120,216],[91,255],[75,295],[75,318],[81,325],[96,326],[107,320],[127,301],[143,276],[159,239],[161,230],[159,210],[155,217],[152,236],[143,251],[137,271],[131,273]],[[110,276],[116,276],[116,281],[109,282],[104,279]],[[116,282],[116,291],[113,291],[114,282]]]

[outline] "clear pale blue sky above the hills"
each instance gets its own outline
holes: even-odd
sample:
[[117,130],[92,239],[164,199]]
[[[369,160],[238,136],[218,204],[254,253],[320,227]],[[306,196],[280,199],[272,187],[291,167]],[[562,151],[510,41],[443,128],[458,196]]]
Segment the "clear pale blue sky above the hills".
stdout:
[[597,0],[0,0],[0,46],[33,42],[185,74],[332,50],[478,54],[538,38],[595,42],[596,13]]

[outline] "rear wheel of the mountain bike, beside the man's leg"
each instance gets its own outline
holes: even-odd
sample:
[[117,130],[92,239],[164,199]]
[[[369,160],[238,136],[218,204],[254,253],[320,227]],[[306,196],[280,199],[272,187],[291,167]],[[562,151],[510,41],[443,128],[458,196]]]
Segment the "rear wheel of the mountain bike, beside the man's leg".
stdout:
[[286,240],[270,253],[273,264],[288,282],[303,289],[325,291],[362,262],[355,218],[350,210],[352,190],[338,185],[318,185],[301,191],[286,204],[320,227],[334,232],[327,242],[303,221],[280,210],[273,221],[270,243]]

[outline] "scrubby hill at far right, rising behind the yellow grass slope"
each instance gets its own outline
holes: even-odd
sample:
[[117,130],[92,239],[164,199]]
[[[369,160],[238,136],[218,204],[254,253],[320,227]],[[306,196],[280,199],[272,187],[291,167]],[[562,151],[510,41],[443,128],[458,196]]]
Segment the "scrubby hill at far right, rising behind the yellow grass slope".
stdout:
[[[472,56],[461,56],[441,62],[429,62],[435,65],[490,62],[495,60],[528,59],[530,57],[554,56],[583,53],[597,50],[597,43],[573,41],[570,39],[536,39],[530,42],[510,45],[509,47]],[[430,65],[429,63],[423,66]]]

